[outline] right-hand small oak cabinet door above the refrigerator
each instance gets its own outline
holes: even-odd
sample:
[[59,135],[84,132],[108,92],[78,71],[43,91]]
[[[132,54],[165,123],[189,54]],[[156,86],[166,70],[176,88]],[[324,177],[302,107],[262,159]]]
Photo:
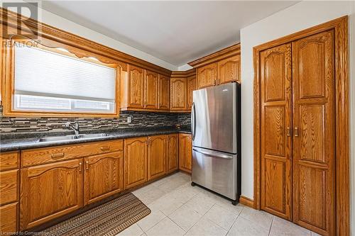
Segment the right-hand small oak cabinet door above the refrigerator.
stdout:
[[236,55],[217,62],[217,84],[241,82],[241,56]]

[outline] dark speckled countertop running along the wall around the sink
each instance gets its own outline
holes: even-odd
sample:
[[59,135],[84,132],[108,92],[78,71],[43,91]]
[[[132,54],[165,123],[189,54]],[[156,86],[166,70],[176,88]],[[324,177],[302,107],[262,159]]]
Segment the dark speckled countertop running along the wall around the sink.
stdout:
[[[116,140],[129,137],[142,137],[150,135],[168,135],[171,133],[191,133],[189,128],[127,128],[123,130],[100,130],[101,132],[92,132],[92,133],[106,133],[108,136],[104,137],[94,137],[94,138],[80,138],[75,140],[60,140],[60,141],[50,141],[50,142],[38,142],[40,137],[46,137],[45,135],[38,135],[39,137],[24,137],[19,136],[11,138],[1,138],[0,142],[0,152],[8,152],[13,150],[24,150],[38,147],[51,147],[58,145],[71,145],[75,143],[83,142],[94,142],[94,141],[103,141],[103,140]],[[86,132],[88,133],[88,132]],[[62,135],[72,135],[73,133],[63,133]],[[60,136],[60,135],[50,135]],[[48,136],[49,137],[49,136]]]

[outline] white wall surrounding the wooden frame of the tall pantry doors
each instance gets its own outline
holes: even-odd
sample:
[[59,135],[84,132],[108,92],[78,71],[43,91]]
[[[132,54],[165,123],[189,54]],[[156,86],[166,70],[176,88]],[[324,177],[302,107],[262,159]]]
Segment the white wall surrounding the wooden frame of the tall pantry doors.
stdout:
[[[302,1],[241,29],[243,196],[253,199],[253,47],[345,15],[351,31],[351,120],[355,120],[355,1]],[[351,223],[355,235],[355,122],[351,123]]]

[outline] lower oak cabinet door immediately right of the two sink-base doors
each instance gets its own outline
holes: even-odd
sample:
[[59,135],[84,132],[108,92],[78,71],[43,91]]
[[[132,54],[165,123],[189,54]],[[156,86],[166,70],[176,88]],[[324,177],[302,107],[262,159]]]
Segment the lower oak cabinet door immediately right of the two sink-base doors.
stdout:
[[148,137],[124,140],[124,187],[131,188],[147,181]]

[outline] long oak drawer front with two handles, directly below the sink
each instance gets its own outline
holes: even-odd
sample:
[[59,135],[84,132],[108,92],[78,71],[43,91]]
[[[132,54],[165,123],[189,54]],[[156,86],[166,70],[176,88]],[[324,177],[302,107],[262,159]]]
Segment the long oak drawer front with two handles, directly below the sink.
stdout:
[[58,162],[65,159],[88,157],[96,154],[124,150],[123,140],[89,142],[77,145],[44,147],[22,151],[22,167]]

